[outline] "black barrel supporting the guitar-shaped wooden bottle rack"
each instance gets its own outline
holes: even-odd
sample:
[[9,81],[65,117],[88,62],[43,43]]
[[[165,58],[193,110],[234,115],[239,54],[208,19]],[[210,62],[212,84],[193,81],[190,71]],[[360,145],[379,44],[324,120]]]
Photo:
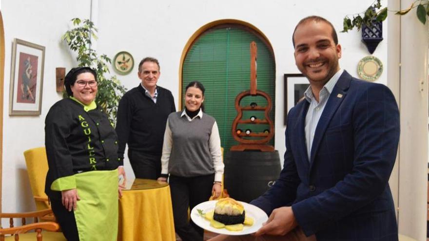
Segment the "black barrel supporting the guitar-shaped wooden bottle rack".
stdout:
[[249,203],[268,190],[279,177],[278,151],[225,153],[225,188],[238,201]]

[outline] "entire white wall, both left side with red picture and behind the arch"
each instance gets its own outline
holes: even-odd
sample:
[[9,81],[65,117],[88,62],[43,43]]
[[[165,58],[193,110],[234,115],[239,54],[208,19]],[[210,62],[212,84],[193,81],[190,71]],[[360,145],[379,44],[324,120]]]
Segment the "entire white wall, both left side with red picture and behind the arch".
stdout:
[[[382,1],[386,3],[387,1]],[[309,15],[320,15],[330,20],[337,29],[343,57],[340,66],[356,74],[359,60],[369,55],[360,41],[360,32],[339,33],[342,19],[347,14],[364,11],[372,0],[285,1],[285,0],[163,0],[163,1],[114,1],[99,0],[93,9],[98,27],[98,53],[113,58],[119,51],[134,56],[133,73],[118,75],[122,84],[131,89],[139,83],[137,64],[145,56],[159,59],[161,76],[159,85],[170,89],[178,107],[178,73],[180,56],[188,39],[208,22],[218,19],[239,19],[261,30],[273,45],[276,61],[276,114],[275,148],[283,153],[283,74],[299,73],[294,64],[292,32],[299,21]],[[4,81],[4,133],[3,133],[3,211],[26,211],[34,208],[31,190],[26,176],[22,152],[44,145],[44,118],[50,106],[60,99],[55,92],[55,68],[75,65],[68,48],[60,42],[60,36],[69,29],[74,17],[90,18],[91,2],[88,0],[2,0],[6,61]],[[386,24],[386,23],[385,23]],[[387,27],[383,40],[374,56],[387,67]],[[46,47],[42,113],[37,117],[10,117],[9,77],[11,46],[14,37]],[[113,71],[112,71],[113,72]],[[386,71],[377,82],[387,83]],[[281,159],[283,154],[281,154]],[[129,176],[132,171],[127,164]]]

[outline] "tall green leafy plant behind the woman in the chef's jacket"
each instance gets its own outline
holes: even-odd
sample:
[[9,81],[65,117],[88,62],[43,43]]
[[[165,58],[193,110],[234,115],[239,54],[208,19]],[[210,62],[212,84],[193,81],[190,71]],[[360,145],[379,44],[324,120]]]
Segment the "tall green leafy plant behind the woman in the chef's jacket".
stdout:
[[[96,103],[106,113],[112,125],[116,123],[117,105],[120,98],[126,92],[126,88],[120,84],[116,75],[106,77],[110,73],[108,64],[112,60],[106,55],[98,56],[97,52],[91,48],[91,39],[97,39],[97,28],[89,19],[72,19],[73,29],[65,32],[61,37],[71,50],[78,54],[78,66],[87,66],[97,72],[98,93]],[[66,96],[66,94],[65,94]]]

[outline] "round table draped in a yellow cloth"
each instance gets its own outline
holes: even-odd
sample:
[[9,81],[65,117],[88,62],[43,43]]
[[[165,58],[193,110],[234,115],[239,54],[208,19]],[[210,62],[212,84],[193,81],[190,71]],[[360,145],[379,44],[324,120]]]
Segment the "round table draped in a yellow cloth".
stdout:
[[131,190],[123,191],[118,241],[135,240],[176,241],[170,186],[136,179]]

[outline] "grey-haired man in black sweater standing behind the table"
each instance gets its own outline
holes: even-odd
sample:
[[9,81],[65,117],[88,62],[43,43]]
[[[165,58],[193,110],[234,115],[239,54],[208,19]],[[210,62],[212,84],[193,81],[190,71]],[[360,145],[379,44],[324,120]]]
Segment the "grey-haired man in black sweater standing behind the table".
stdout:
[[156,85],[160,75],[156,58],[145,57],[138,65],[141,83],[119,101],[116,132],[118,157],[128,158],[136,178],[156,180],[161,174],[161,152],[168,115],[176,111],[172,93]]

